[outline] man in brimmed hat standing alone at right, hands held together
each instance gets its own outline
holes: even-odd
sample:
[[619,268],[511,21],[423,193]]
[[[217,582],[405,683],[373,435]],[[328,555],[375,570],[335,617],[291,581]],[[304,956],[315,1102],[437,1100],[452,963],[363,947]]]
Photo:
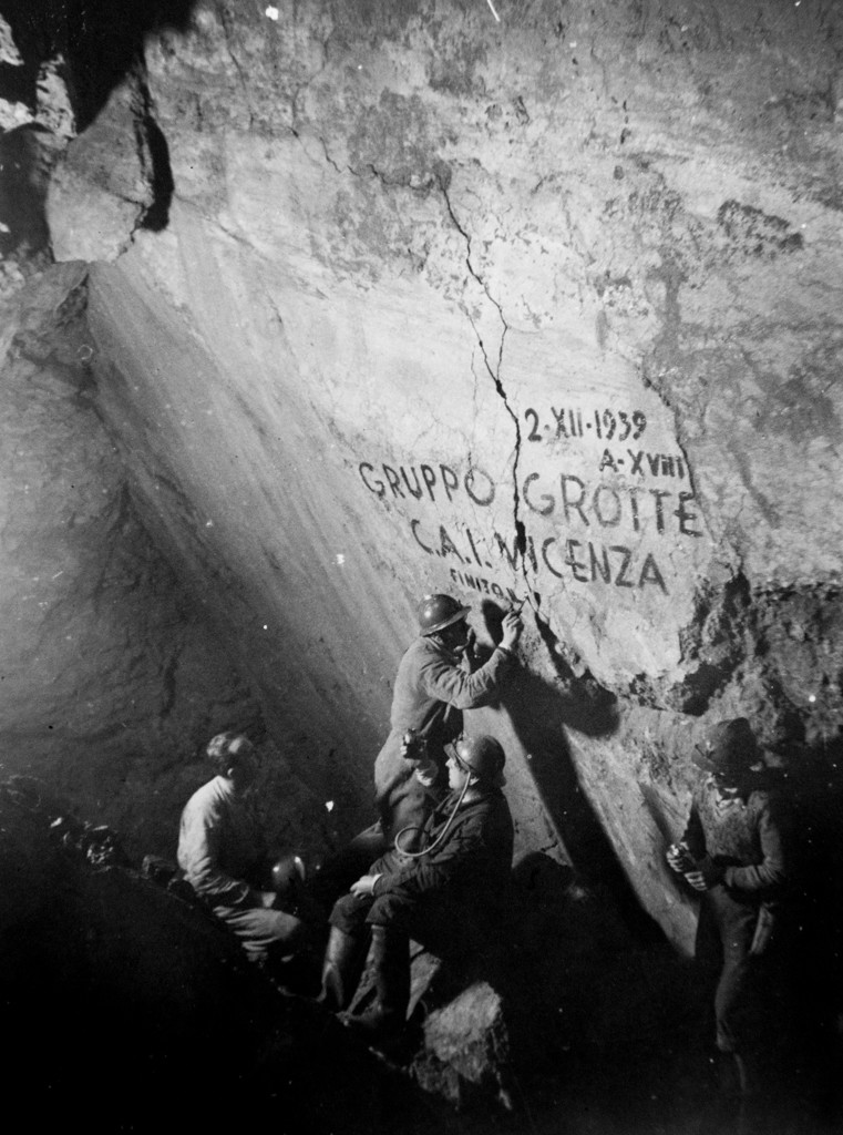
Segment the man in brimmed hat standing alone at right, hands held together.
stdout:
[[[715,1039],[732,1053],[741,1093],[756,1095],[770,1042],[781,1039],[785,884],[790,858],[781,807],[745,717],[716,724],[694,764],[708,776],[694,791],[673,871],[701,892],[697,961],[716,981]],[[778,1036],[777,1036],[778,1034]]]

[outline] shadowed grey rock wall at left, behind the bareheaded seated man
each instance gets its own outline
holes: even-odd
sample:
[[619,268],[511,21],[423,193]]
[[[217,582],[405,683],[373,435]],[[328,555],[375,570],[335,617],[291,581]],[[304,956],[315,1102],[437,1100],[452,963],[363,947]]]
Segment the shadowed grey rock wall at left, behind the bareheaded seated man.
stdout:
[[[1,763],[43,775],[135,855],[172,855],[212,733],[247,729],[289,768],[137,519],[94,409],[85,280],[85,264],[57,266],[2,308]],[[292,776],[287,791],[304,824],[306,791]]]

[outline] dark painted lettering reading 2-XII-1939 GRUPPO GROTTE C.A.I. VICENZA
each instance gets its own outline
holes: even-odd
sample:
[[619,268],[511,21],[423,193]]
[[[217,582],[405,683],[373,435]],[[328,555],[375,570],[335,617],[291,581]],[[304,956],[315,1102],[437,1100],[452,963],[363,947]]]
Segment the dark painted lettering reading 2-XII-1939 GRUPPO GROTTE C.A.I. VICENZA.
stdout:
[[[659,431],[648,434],[641,410],[528,407],[523,418],[516,535],[513,484],[478,459],[372,456],[359,463],[361,481],[405,518],[421,553],[449,561],[462,586],[514,598],[528,569],[565,586],[669,595],[673,550],[705,535],[684,455],[647,447]],[[489,579],[499,572],[508,586]]]

